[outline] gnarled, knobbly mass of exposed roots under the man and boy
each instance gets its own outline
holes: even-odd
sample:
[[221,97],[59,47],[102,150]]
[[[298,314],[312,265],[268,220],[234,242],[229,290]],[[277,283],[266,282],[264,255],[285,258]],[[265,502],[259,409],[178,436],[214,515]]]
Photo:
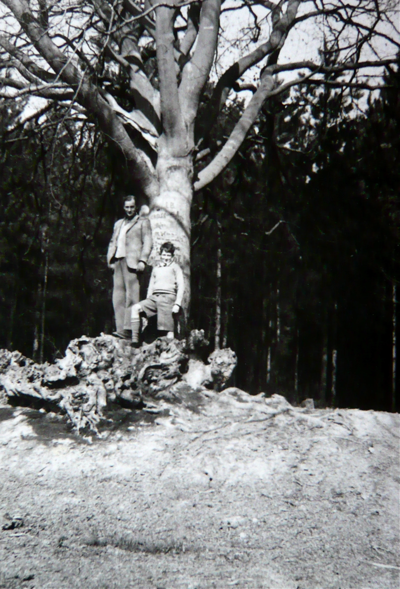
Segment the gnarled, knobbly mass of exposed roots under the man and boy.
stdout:
[[79,337],[54,364],[37,364],[20,352],[0,350],[0,388],[9,401],[55,406],[68,416],[78,433],[98,434],[98,423],[110,403],[131,409],[146,401],[181,402],[175,385],[183,381],[185,394],[205,387],[223,389],[236,366],[230,349],[216,350],[201,360],[209,342],[203,330],[186,340],[159,337],[142,348],[111,335]]

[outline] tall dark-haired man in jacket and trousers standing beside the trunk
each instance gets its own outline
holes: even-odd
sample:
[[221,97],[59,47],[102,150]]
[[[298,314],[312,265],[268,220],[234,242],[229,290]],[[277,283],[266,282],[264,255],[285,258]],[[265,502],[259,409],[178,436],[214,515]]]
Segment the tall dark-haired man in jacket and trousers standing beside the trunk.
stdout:
[[136,214],[134,196],[125,198],[124,211],[125,217],[114,224],[107,264],[114,270],[113,306],[117,326],[114,335],[131,339],[131,309],[140,300],[138,275],[146,267],[153,239],[147,215]]

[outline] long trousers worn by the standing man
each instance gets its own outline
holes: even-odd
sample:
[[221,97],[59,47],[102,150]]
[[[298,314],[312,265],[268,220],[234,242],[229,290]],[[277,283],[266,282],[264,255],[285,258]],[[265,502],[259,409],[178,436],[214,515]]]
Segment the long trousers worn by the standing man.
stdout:
[[114,266],[113,307],[117,332],[131,329],[132,306],[140,300],[140,286],[136,270],[128,268],[125,258]]

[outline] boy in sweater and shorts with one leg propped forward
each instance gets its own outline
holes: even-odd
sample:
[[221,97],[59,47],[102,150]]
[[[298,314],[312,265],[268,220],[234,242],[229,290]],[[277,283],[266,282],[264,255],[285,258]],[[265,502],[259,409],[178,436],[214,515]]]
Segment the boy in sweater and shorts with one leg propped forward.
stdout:
[[166,331],[167,337],[174,337],[173,314],[179,312],[183,297],[183,272],[174,262],[175,247],[167,241],[160,248],[161,264],[154,267],[148,284],[147,298],[132,307],[132,343],[138,345],[140,313],[147,317],[157,314],[157,329]]

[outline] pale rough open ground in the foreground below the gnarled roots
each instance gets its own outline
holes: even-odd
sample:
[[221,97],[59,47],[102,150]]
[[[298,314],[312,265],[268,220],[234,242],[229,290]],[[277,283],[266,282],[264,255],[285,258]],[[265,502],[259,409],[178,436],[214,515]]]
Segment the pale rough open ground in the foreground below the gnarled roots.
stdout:
[[92,443],[0,419],[2,525],[24,522],[0,587],[399,587],[398,415],[211,394]]

